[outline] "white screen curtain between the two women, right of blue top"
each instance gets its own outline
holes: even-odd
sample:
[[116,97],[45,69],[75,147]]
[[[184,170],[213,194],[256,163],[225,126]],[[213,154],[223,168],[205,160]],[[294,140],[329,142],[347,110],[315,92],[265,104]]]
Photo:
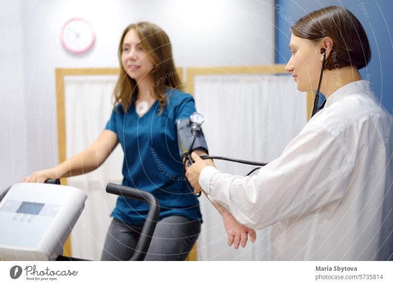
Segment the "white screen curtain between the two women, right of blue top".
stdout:
[[[272,161],[307,122],[307,95],[296,90],[290,75],[197,76],[194,97],[205,117],[202,128],[212,155]],[[240,175],[255,167],[223,161],[216,165]],[[205,197],[200,204],[204,222],[197,243],[199,260],[268,259],[270,228],[258,231],[255,243],[245,248],[229,248],[220,214]]]

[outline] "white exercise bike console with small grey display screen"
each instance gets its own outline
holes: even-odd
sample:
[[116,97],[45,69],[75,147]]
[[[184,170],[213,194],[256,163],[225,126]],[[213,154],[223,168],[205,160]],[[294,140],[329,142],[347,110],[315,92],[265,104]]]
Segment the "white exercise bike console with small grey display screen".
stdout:
[[70,186],[14,184],[0,201],[0,260],[56,260],[86,198]]

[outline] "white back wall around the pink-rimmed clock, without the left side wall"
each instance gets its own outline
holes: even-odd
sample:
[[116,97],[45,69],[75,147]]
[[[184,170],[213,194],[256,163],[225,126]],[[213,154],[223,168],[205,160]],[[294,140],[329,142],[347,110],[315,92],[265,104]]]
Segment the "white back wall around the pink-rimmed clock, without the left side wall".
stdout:
[[[25,172],[57,163],[55,68],[117,67],[117,46],[123,29],[130,23],[146,20],[168,33],[179,67],[272,64],[273,6],[273,0],[26,0],[20,3],[28,123]],[[83,55],[70,54],[60,43],[61,26],[72,17],[84,18],[96,32],[95,46]]]

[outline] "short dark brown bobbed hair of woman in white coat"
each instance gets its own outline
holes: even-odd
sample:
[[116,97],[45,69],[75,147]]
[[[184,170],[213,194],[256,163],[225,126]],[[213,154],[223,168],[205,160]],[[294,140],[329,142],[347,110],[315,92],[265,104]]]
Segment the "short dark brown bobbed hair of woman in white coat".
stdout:
[[364,68],[371,58],[365,29],[347,9],[328,6],[299,19],[291,32],[303,39],[319,42],[325,37],[333,41],[332,51],[326,58],[325,68],[333,70],[346,66]]

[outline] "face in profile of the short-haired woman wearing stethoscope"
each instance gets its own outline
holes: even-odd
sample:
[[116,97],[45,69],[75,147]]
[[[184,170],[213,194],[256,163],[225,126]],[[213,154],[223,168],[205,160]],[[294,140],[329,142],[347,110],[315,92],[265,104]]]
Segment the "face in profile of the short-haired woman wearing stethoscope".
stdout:
[[322,68],[320,48],[308,39],[292,34],[289,49],[292,56],[285,70],[292,73],[297,89],[302,92],[317,90]]

